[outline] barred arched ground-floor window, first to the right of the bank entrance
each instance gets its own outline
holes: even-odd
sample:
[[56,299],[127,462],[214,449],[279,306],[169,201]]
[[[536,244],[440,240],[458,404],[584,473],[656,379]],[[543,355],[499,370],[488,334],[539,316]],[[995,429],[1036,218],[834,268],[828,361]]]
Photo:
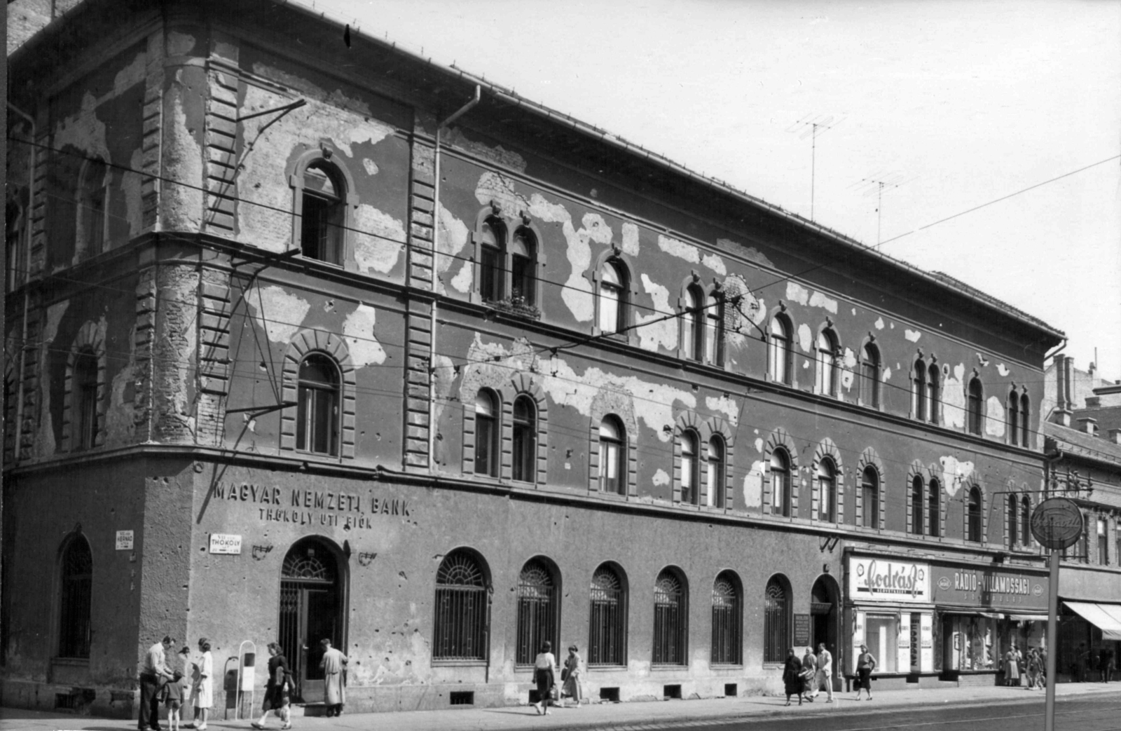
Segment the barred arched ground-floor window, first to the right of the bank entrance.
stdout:
[[434,660],[487,659],[487,573],[467,550],[453,550],[436,571]]

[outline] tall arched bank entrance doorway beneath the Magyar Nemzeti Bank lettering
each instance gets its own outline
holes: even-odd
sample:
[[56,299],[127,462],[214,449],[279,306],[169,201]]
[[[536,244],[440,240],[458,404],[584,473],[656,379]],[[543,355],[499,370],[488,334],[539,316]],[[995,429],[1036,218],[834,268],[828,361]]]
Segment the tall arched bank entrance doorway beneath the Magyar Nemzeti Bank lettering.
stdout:
[[345,614],[342,571],[332,545],[321,538],[296,542],[280,572],[280,647],[296,679],[296,698],[323,702],[323,639],[343,645]]

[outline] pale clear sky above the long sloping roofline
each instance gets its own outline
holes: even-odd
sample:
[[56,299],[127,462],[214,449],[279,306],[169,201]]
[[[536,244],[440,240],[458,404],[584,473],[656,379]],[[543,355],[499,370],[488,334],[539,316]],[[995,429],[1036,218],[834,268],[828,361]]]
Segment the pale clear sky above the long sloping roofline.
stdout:
[[813,205],[1064,331],[1077,368],[1096,349],[1121,379],[1121,0],[314,7],[788,211]]

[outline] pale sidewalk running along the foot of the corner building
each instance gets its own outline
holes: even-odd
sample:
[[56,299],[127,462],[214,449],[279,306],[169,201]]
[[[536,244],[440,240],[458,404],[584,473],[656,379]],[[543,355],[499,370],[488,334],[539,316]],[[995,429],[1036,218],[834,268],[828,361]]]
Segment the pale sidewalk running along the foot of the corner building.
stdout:
[[[1056,688],[1058,698],[1094,693],[1118,693],[1118,683],[1064,683]],[[328,731],[333,729],[393,729],[395,731],[528,731],[532,729],[627,729],[649,728],[671,723],[704,725],[736,719],[762,719],[775,715],[810,715],[821,718],[833,713],[868,712],[873,709],[896,710],[923,705],[953,703],[955,706],[1023,703],[1044,701],[1041,691],[1022,687],[956,687],[915,691],[881,691],[871,702],[854,702],[853,695],[837,693],[832,704],[824,694],[816,703],[785,707],[784,696],[750,696],[740,698],[712,698],[704,701],[651,701],[647,703],[595,703],[576,709],[554,709],[547,716],[537,715],[532,706],[502,709],[463,709],[448,711],[402,711],[396,713],[362,713],[339,719],[294,718],[296,731]],[[249,720],[223,720],[215,714],[209,728],[213,731],[249,729]],[[270,729],[280,724],[269,716]],[[161,727],[167,729],[166,723]],[[84,729],[87,731],[133,731],[136,721],[118,721],[61,713],[38,713],[18,709],[0,709],[0,731],[59,731]]]

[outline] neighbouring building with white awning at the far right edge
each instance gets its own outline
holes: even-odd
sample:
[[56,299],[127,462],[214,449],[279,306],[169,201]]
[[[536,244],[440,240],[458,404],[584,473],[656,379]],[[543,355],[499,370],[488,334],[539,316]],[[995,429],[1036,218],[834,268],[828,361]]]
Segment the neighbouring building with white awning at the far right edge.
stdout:
[[[1117,418],[1121,408],[1072,411],[1073,389],[1074,379],[1058,381],[1058,407],[1043,425],[1047,489],[1073,499],[1085,527],[1082,540],[1064,552],[1059,572],[1056,669],[1060,679],[1097,679],[1103,651],[1114,664],[1121,659],[1121,424],[1103,432],[1095,416]],[[1101,398],[1114,390],[1121,388],[1094,392]]]

